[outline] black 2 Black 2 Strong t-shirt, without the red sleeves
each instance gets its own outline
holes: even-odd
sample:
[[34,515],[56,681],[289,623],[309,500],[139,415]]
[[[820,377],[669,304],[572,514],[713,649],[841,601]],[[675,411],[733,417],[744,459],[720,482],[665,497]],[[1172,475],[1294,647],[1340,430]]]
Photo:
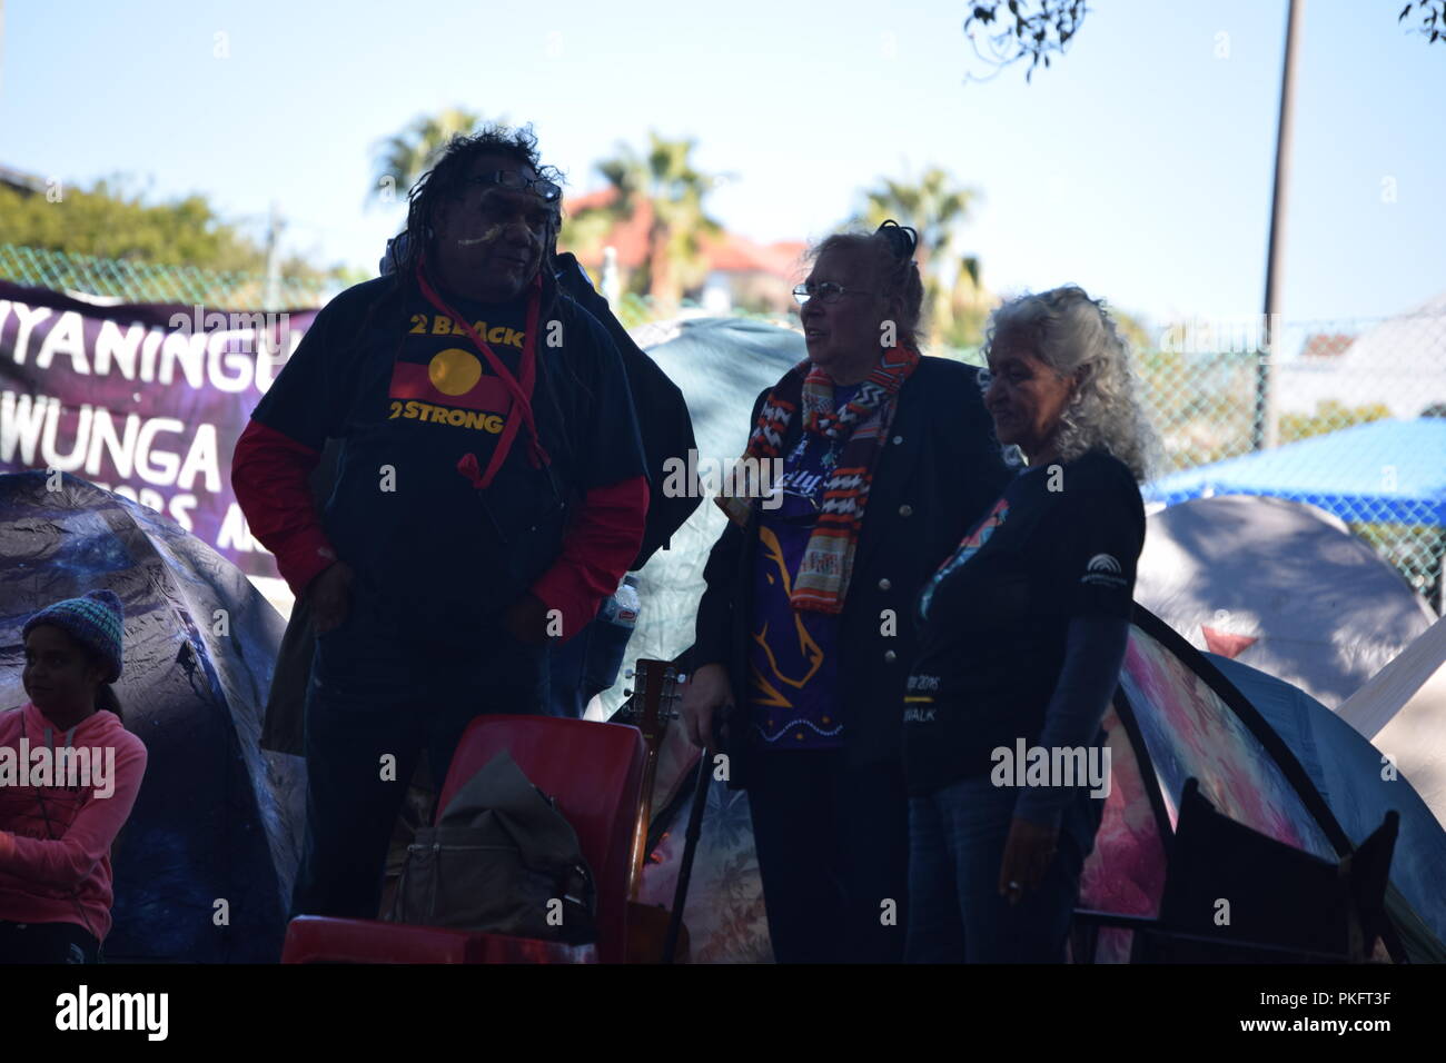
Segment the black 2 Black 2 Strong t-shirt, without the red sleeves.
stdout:
[[[487,467],[513,412],[510,393],[461,325],[390,279],[357,285],[317,315],[253,417],[317,450],[343,440],[322,513],[337,555],[379,607],[434,644],[438,631],[495,628],[557,560],[589,489],[645,474],[628,379],[612,338],[568,299],[544,308],[532,411],[551,457],[534,469],[519,424],[492,484],[458,470]],[[513,376],[526,298],[447,302]]]

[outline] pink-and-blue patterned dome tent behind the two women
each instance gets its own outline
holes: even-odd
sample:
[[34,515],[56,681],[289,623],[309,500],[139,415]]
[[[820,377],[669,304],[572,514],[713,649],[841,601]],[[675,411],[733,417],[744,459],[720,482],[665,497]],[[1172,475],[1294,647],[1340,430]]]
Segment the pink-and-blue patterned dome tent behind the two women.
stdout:
[[[1239,686],[1235,681],[1238,680]],[[1248,694],[1245,691],[1249,691]],[[1339,861],[1401,814],[1387,918],[1397,960],[1446,959],[1446,832],[1403,780],[1382,782],[1379,756],[1329,710],[1280,680],[1194,651],[1137,605],[1121,688],[1105,717],[1111,793],[1084,865],[1080,907],[1158,915],[1167,843],[1186,781],[1220,813],[1275,842]],[[669,735],[672,740],[677,740]],[[671,905],[691,810],[691,764],[678,758],[659,787],[643,900]],[[704,960],[756,960],[766,952],[762,891],[740,794],[713,781],[684,921]],[[1126,931],[1105,930],[1098,962],[1131,955]]]

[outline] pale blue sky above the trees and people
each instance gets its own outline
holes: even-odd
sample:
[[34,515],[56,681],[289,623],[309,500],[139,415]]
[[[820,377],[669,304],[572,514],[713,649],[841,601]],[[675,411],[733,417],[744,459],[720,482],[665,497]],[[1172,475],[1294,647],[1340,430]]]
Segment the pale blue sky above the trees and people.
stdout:
[[[1446,45],[1400,6],[1307,4],[1290,320],[1446,288]],[[818,237],[863,185],[941,165],[979,189],[960,250],[996,291],[1073,281],[1157,324],[1258,312],[1285,0],[1096,0],[1032,84],[964,82],[966,7],[10,0],[0,163],[200,191],[257,234],[276,200],[288,250],[372,268],[401,224],[364,207],[373,145],[461,104],[531,120],[574,192],[617,140],[694,136],[732,175],[714,215],[762,240]]]

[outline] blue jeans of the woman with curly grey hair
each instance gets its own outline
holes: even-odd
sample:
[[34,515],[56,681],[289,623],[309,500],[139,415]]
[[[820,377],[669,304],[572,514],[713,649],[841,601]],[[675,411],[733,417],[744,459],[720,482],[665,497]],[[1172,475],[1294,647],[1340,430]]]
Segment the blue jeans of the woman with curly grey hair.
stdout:
[[1103,798],[1080,790],[1044,881],[1011,905],[999,868],[1019,791],[989,775],[910,798],[910,963],[1061,963]]

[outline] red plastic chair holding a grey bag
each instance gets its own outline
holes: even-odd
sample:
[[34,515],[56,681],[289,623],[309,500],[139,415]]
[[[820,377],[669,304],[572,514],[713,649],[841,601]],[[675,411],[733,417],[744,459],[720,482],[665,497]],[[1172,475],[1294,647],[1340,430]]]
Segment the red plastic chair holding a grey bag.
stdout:
[[299,915],[286,927],[282,963],[622,963],[628,949],[628,875],[642,795],[645,746],[636,727],[554,716],[479,716],[453,755],[438,814],[453,794],[506,749],[557,798],[597,878],[597,944],[567,946],[505,934],[376,920]]

